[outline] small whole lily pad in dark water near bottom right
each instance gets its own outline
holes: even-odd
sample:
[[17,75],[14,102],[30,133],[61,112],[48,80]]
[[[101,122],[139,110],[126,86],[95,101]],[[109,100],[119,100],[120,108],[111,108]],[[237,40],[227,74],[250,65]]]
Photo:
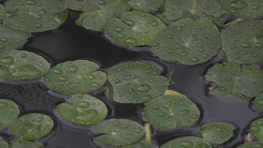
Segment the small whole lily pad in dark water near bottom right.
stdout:
[[209,142],[211,146],[227,142],[234,133],[231,125],[221,122],[207,123],[199,127],[197,135]]

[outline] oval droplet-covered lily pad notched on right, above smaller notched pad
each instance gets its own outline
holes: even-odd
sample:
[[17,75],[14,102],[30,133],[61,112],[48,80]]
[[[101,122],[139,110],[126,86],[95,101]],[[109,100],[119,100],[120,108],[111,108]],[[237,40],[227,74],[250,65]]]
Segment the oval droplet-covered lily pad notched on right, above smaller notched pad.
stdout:
[[45,85],[58,93],[74,95],[88,93],[103,86],[106,74],[97,71],[99,66],[88,60],[60,63],[45,75]]

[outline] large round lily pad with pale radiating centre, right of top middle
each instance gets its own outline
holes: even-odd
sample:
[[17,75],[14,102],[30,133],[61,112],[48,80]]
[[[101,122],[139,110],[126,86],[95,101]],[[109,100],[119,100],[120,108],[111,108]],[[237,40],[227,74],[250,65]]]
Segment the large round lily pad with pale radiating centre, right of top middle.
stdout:
[[221,48],[221,37],[213,23],[184,18],[170,24],[151,42],[154,54],[166,62],[196,65],[209,61]]

